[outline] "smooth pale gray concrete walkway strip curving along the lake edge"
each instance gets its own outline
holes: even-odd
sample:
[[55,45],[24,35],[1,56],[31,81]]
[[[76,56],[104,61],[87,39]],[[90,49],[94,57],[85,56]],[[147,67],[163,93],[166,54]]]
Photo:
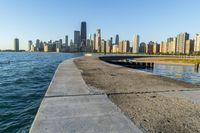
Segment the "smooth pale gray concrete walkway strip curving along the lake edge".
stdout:
[[69,59],[61,63],[30,133],[141,133],[106,95],[89,91]]

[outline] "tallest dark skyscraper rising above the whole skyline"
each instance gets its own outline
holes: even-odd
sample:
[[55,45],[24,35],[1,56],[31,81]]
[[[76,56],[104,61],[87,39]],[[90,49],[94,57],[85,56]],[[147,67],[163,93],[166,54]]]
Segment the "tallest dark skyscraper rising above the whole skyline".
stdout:
[[87,41],[87,28],[86,22],[81,22],[81,50],[86,50],[86,41]]

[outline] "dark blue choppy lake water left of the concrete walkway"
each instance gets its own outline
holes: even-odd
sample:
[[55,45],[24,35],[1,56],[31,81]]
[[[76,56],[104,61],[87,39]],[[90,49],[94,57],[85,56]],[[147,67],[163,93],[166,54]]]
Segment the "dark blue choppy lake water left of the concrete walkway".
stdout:
[[0,133],[26,133],[66,53],[0,52]]

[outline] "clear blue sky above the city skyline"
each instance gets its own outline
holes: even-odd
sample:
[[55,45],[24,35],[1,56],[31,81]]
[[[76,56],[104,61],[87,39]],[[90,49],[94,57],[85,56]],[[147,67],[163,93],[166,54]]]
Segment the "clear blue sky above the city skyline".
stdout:
[[88,34],[101,28],[105,39],[120,35],[141,41],[165,40],[179,32],[191,38],[200,32],[200,0],[1,0],[0,49],[13,49],[13,39],[20,39],[20,49],[28,40],[73,38],[82,20]]

